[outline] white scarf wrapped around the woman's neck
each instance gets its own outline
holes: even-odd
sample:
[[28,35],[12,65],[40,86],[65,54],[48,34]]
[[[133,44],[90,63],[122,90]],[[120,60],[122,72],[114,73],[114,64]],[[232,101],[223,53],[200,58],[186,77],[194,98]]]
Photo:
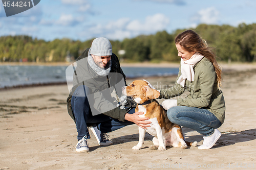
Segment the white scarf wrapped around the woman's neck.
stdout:
[[203,58],[204,58],[203,55],[196,52],[190,59],[186,61],[183,61],[183,59],[181,59],[180,61],[181,76],[177,80],[177,83],[179,83],[182,87],[184,87],[186,79],[188,81],[194,81],[195,72],[193,68]]

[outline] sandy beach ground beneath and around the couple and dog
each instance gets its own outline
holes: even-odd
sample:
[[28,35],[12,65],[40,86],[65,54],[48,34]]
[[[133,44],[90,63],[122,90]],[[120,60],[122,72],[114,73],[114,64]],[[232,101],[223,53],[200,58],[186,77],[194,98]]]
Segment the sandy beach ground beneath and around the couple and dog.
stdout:
[[[143,148],[135,151],[139,132],[131,125],[109,133],[113,145],[99,146],[92,135],[90,152],[77,153],[77,131],[67,112],[67,85],[1,90],[0,169],[255,169],[256,65],[222,66],[226,119],[219,128],[222,136],[210,150],[150,150],[153,137],[146,134]],[[146,80],[171,86],[176,76]],[[201,134],[182,130],[187,141],[202,144]]]

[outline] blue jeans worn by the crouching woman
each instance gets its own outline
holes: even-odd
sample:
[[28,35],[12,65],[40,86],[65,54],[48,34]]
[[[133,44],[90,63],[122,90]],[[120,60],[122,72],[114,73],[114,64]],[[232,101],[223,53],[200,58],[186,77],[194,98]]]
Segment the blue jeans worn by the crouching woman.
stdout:
[[214,129],[222,125],[213,113],[203,108],[176,106],[167,110],[167,117],[170,122],[194,129],[204,136],[213,134]]

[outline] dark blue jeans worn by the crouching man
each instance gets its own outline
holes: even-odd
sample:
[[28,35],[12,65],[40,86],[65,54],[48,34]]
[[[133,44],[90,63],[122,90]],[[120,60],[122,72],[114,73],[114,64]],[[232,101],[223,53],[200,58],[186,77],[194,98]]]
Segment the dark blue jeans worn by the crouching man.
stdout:
[[[121,122],[118,119],[114,119],[104,114],[93,116],[86,95],[86,90],[88,90],[87,86],[77,87],[71,99],[72,111],[76,121],[78,140],[82,139],[85,135],[87,135],[88,139],[91,138],[88,131],[88,126],[93,124],[97,124],[101,133],[112,132],[127,125],[134,124],[133,122],[129,121]],[[130,114],[134,112],[135,108],[129,111]]]

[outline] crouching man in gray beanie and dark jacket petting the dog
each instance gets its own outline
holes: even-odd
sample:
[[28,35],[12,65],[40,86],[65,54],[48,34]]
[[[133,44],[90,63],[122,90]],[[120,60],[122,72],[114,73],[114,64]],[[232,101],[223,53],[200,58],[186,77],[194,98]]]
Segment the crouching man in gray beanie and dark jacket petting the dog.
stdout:
[[[77,152],[89,151],[88,127],[97,125],[100,130],[100,145],[112,144],[106,139],[107,132],[135,123],[141,128],[150,127],[140,118],[135,109],[129,111],[117,107],[121,87],[126,85],[125,75],[112,45],[106,38],[96,38],[91,48],[87,48],[77,59],[74,70],[73,88],[67,99],[68,111],[76,123],[78,132]],[[113,92],[116,94],[113,97]],[[118,97],[117,97],[118,96]],[[116,98],[115,98],[116,97]]]

